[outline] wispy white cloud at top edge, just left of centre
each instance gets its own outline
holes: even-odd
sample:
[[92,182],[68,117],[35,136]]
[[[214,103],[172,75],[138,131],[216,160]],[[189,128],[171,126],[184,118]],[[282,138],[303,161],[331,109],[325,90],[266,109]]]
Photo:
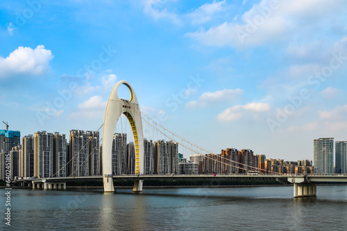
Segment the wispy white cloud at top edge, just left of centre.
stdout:
[[162,0],[144,0],[144,12],[153,17],[153,19],[170,19],[174,23],[180,23],[180,19],[178,19],[176,14],[168,12],[167,8],[164,8],[164,3],[166,2]]

